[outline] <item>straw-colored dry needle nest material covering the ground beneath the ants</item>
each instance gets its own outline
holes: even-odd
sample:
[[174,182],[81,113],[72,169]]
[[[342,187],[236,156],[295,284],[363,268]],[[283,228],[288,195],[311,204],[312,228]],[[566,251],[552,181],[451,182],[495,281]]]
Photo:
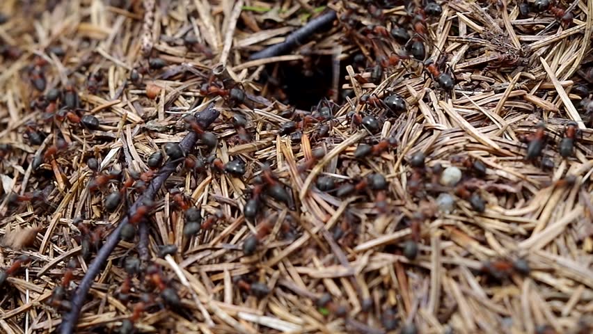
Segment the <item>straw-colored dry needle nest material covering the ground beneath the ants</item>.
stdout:
[[[402,1],[321,2],[1,1],[0,143],[10,144],[0,152],[0,233],[7,234],[2,333],[50,333],[61,325],[102,239],[122,218],[139,218],[127,208],[143,188],[136,181],[124,189],[114,213],[104,209],[104,198],[131,172],[150,182],[150,154],[181,141],[188,131],[182,116],[212,101],[221,111],[207,129],[218,138],[214,150],[198,141],[185,153],[221,159],[216,166],[241,159],[246,173],[221,173],[209,161],[190,170],[191,161],[183,161],[139,225],[148,226],[148,243],[120,241],[109,255],[86,296],[79,333],[118,331],[127,319],[155,333],[590,333],[593,132],[577,84],[592,79],[593,1],[571,6],[568,25],[550,8],[519,18],[517,2],[443,1],[439,17],[420,21],[424,36],[414,35],[410,13],[420,1],[411,10]],[[323,10],[338,13],[329,30],[292,54],[247,61]],[[397,24],[422,42],[441,73],[454,73],[454,90],[435,84],[438,77],[422,62],[404,56],[404,45],[370,26],[377,24],[387,32]],[[335,71],[354,54],[365,59]],[[395,54],[404,56],[401,63]],[[320,69],[333,73],[333,97],[354,94],[341,105],[315,106],[329,106],[333,117],[307,118],[302,136],[280,136],[299,111],[281,103],[278,86],[257,80],[264,71],[274,77],[286,62],[315,70],[308,61],[319,55],[338,64],[333,72]],[[372,83],[381,56],[391,56],[392,65]],[[151,69],[155,58],[165,66]],[[212,76],[221,63],[248,94],[244,103],[214,94],[223,88]],[[39,100],[40,77],[44,94],[63,94],[55,109]],[[212,94],[204,96],[200,88],[208,83]],[[78,109],[60,111],[72,92]],[[394,93],[406,99],[403,113],[381,103]],[[367,104],[358,103],[363,94],[370,95]],[[232,125],[237,114],[248,120],[245,127]],[[100,125],[78,123],[83,115]],[[356,124],[369,115],[381,123],[374,136]],[[580,131],[564,159],[558,148],[569,120]],[[319,136],[324,125],[329,135]],[[239,139],[242,131],[251,139]],[[524,142],[538,141],[537,132],[548,138],[543,152],[525,159]],[[33,143],[41,133],[42,142]],[[397,139],[397,148],[355,159],[357,145],[385,138]],[[322,157],[313,157],[317,149]],[[426,156],[424,169],[412,166],[418,152]],[[100,172],[87,166],[91,157]],[[458,186],[438,184],[438,164],[462,170]],[[476,170],[482,166],[484,176]],[[92,189],[113,170],[122,176]],[[338,187],[370,174],[384,175],[386,190],[358,183],[360,191],[338,198],[318,189],[321,176]],[[269,193],[282,185],[287,203]],[[254,190],[262,187],[267,191]],[[173,188],[191,200],[180,205]],[[454,197],[452,212],[439,211],[441,193]],[[243,212],[255,196],[261,200],[254,222]],[[184,205],[205,218],[193,236],[183,234]],[[254,236],[253,254],[244,255]],[[177,253],[159,258],[164,244]],[[413,246],[418,256],[410,260]],[[141,269],[129,275],[124,260],[137,256]],[[56,296],[56,287],[65,294]],[[161,292],[168,287],[182,305],[167,305]],[[324,294],[330,298],[321,303]]]

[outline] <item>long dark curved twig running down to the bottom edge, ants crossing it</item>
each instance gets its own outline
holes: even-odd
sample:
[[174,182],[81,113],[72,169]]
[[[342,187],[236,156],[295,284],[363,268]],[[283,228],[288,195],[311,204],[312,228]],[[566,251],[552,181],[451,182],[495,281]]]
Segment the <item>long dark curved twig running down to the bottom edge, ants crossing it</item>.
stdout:
[[[214,110],[213,104],[210,104],[207,109],[205,109],[205,111],[196,114],[196,120],[198,124],[205,129],[209,127],[209,125],[211,125],[214,120],[219,117],[219,115],[219,111]],[[181,141],[180,146],[185,152],[189,152],[193,146],[196,145],[196,141],[198,141],[198,135],[194,132],[189,132],[187,136],[185,136],[185,138],[183,138]],[[86,299],[86,294],[88,294],[90,285],[93,284],[95,277],[99,274],[103,264],[107,260],[107,257],[109,257],[113,249],[116,248],[117,244],[119,243],[120,230],[125,224],[128,223],[128,217],[134,216],[136,210],[141,205],[143,205],[145,200],[152,200],[155,198],[155,195],[159,189],[161,189],[161,186],[175,171],[180,162],[181,161],[179,159],[169,159],[166,161],[166,163],[159,170],[157,176],[155,176],[155,178],[150,181],[150,184],[148,184],[148,187],[146,188],[146,191],[143,193],[143,195],[140,196],[136,202],[134,202],[132,207],[130,207],[129,214],[125,215],[122,221],[120,221],[118,227],[113,230],[113,233],[111,233],[109,237],[107,237],[105,244],[103,244],[99,250],[99,253],[97,253],[97,257],[95,257],[95,260],[88,267],[88,271],[82,278],[78,289],[76,292],[74,292],[74,297],[72,298],[72,309],[64,316],[60,333],[74,333],[74,326],[76,325],[80,316],[80,310],[84,304],[84,300]]]

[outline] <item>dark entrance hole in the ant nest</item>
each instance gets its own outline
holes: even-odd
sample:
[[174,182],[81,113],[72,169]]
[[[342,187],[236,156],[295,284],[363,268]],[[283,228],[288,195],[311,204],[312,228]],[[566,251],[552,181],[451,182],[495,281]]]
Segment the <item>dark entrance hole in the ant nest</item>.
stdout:
[[[320,101],[331,99],[332,62],[332,56],[313,55],[308,62],[287,61],[272,64],[267,67],[262,80],[267,80],[268,92],[272,97],[297,109],[310,110],[317,107]],[[338,104],[344,101],[341,87],[346,83],[346,66],[351,63],[351,59],[340,62]]]

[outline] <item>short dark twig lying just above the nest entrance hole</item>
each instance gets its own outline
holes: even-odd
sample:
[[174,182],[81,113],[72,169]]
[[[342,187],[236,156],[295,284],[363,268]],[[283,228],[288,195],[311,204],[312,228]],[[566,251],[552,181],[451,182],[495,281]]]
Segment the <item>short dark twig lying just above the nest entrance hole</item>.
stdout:
[[307,24],[288,35],[284,42],[267,47],[262,51],[255,52],[255,54],[252,54],[249,59],[255,61],[256,59],[269,58],[285,54],[287,51],[290,51],[290,49],[303,44],[303,42],[307,38],[310,38],[310,35],[315,33],[315,31],[322,29],[324,26],[330,24],[337,18],[338,15],[335,13],[335,11],[329,10],[327,13],[315,17],[315,19],[310,20]]

